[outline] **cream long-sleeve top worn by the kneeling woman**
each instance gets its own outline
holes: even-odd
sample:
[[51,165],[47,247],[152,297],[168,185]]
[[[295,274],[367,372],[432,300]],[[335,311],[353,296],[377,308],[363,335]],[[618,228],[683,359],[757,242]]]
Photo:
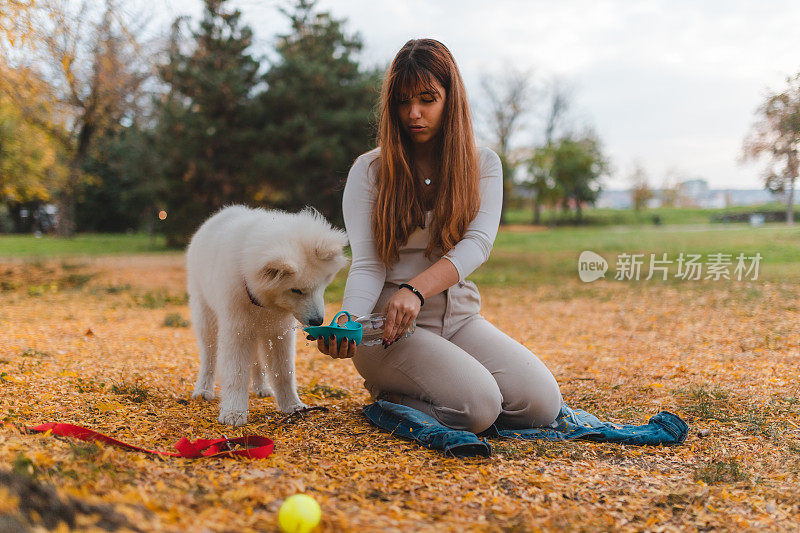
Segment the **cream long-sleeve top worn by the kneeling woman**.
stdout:
[[[428,269],[442,256],[437,248],[431,259],[425,257],[430,237],[432,211],[425,214],[425,227],[417,228],[398,250],[400,259],[391,268],[381,262],[372,234],[371,214],[377,196],[377,164],[380,147],[359,156],[350,168],[342,198],[345,230],[353,259],[344,288],[342,309],[362,316],[372,312],[386,281],[405,283]],[[481,203],[478,214],[467,226],[464,238],[444,257],[456,267],[459,281],[464,281],[489,259],[503,204],[503,170],[500,158],[490,148],[479,149]]]

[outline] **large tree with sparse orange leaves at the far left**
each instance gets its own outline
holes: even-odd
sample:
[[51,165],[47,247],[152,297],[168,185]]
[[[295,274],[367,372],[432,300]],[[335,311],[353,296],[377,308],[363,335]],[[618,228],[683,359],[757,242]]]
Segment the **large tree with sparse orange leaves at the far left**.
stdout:
[[[0,48],[0,60],[11,74],[0,79],[0,91],[68,154],[69,174],[58,192],[57,232],[70,236],[89,149],[137,105],[142,84],[154,72],[153,54],[137,40],[143,26],[132,27],[113,0],[100,9],[88,2],[76,7],[67,0],[42,0],[31,9],[35,29],[24,45]],[[33,79],[44,80],[47,90],[32,87]]]

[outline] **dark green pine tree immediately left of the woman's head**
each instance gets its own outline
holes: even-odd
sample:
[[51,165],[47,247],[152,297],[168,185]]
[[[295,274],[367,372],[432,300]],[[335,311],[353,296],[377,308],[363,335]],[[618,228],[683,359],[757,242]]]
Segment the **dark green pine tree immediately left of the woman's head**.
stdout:
[[360,37],[343,21],[315,13],[316,0],[298,0],[291,31],[279,37],[275,64],[260,95],[264,180],[257,200],[295,211],[312,205],[342,225],[342,189],[354,159],[374,146],[381,71],[355,60]]

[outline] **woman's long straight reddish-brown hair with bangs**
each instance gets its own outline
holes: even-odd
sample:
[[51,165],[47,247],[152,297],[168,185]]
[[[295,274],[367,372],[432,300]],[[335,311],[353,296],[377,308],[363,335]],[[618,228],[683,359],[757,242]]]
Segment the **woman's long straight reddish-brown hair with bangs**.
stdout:
[[[377,200],[372,229],[378,255],[390,267],[400,259],[398,248],[425,220],[422,190],[414,179],[413,146],[398,118],[398,105],[407,94],[436,92],[433,80],[444,87],[442,126],[434,142],[436,184],[430,240],[425,256],[436,247],[451,250],[464,237],[478,214],[480,190],[478,150],[472,131],[464,82],[450,51],[434,39],[412,39],[397,53],[383,79],[375,161]],[[424,223],[424,222],[423,222]]]

